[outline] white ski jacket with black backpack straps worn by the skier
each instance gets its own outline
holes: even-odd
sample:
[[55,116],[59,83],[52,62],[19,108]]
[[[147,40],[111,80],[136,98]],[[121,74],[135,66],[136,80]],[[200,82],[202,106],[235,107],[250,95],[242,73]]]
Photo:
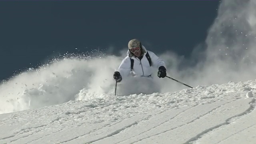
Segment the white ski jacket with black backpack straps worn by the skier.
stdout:
[[[136,58],[131,54],[131,52],[127,51],[127,56],[122,60],[120,66],[118,67],[118,72],[120,72],[120,75],[123,78],[126,78],[129,75],[135,75],[135,76],[149,76],[152,75],[152,67],[159,68],[160,66],[165,66],[165,63],[163,60],[161,60],[154,52],[151,52],[149,50],[146,50],[144,46],[142,46],[142,52],[143,58],[140,60],[139,58]],[[148,52],[151,61],[152,61],[152,67],[150,67],[150,64],[148,62],[148,59],[146,58],[146,52]],[[131,60],[130,58],[134,59],[134,66],[133,71],[131,71]]]

